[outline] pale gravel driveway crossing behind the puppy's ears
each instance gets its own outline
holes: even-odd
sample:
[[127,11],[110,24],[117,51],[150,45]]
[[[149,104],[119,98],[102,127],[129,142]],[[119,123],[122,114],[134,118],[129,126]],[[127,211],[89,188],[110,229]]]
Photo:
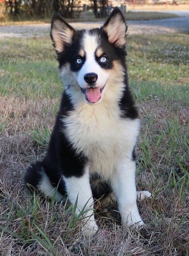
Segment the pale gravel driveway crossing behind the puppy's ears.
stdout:
[[[103,22],[70,23],[76,29],[96,28]],[[189,17],[167,18],[157,20],[132,20],[128,22],[128,34],[167,34],[189,31]],[[0,26],[0,38],[33,37],[47,35],[49,24]]]

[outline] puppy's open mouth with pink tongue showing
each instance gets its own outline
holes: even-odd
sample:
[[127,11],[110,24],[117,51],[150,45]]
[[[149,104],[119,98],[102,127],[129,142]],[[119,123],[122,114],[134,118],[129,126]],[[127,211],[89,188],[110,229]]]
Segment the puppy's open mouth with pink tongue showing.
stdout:
[[90,103],[96,103],[101,99],[101,93],[104,90],[105,86],[102,88],[95,87],[95,88],[86,88],[82,89],[82,93],[85,94],[85,99]]

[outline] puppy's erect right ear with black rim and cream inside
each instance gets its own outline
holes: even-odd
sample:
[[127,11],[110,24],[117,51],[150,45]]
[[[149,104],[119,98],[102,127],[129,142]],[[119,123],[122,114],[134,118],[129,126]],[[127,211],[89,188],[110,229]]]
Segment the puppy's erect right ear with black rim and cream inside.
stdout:
[[116,47],[125,47],[127,25],[119,8],[113,9],[102,29],[107,33],[111,44]]

